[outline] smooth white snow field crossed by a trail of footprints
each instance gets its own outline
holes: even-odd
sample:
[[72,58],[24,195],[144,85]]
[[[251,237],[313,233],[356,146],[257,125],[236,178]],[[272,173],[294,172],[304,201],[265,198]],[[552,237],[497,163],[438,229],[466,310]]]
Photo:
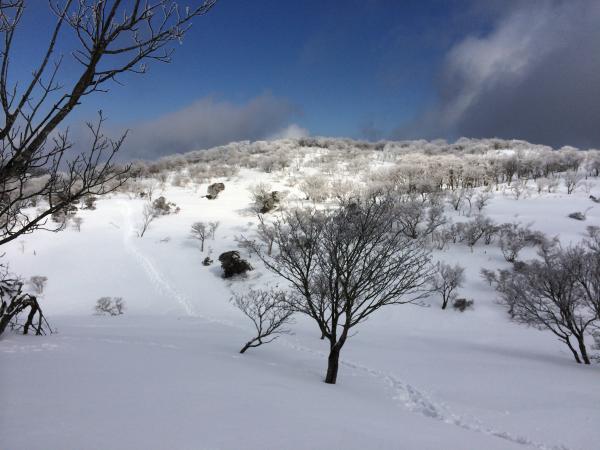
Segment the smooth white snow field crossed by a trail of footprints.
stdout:
[[[336,385],[322,381],[327,344],[304,317],[293,335],[240,355],[253,329],[231,292],[275,280],[255,257],[246,279],[224,280],[217,257],[253,234],[248,185],[294,189],[246,169],[214,181],[226,185],[216,200],[202,198],[206,184],[167,183],[160,195],[181,212],[143,238],[143,201],[114,194],[78,213],[81,232],[5,246],[12,271],[48,277],[41,303],[57,332],[0,341],[0,449],[600,448],[600,366],[509,321],[479,275],[508,267],[495,245],[434,252],[466,267],[460,294],[474,309],[443,311],[435,296],[382,309],[344,346]],[[593,206],[588,195],[498,191],[485,212],[575,243],[600,225],[600,206],[584,222],[566,217]],[[215,220],[202,253],[190,226]],[[123,297],[125,314],[94,315],[102,296]]]

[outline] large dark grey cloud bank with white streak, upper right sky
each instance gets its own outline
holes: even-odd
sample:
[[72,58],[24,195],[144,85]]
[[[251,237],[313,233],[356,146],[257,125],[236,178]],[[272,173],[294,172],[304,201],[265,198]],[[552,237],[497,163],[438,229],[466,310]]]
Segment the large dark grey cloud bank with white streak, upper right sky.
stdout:
[[511,5],[450,49],[437,104],[397,135],[600,147],[600,2]]

